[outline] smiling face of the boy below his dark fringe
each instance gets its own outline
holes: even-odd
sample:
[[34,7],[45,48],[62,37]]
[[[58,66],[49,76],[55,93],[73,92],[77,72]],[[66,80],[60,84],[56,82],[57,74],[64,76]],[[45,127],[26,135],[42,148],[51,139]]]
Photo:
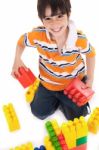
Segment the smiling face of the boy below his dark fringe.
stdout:
[[57,15],[51,16],[51,8],[47,7],[45,10],[45,18],[42,19],[43,25],[51,33],[53,37],[60,37],[66,32],[68,26],[67,14],[61,14],[60,11]]

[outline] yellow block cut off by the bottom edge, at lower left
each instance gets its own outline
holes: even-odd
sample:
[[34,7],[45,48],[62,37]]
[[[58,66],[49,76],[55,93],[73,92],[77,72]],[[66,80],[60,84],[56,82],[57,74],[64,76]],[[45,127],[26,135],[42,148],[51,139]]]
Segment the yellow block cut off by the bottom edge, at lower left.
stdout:
[[[11,149],[10,149],[11,150]],[[12,150],[34,150],[33,145],[31,142],[28,142],[26,144],[22,144],[20,146],[16,146],[14,149]]]

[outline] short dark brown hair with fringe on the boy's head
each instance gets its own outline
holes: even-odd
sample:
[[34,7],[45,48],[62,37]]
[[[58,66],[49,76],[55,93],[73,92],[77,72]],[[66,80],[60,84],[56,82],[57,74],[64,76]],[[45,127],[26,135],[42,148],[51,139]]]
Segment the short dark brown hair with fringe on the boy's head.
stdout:
[[71,12],[70,0],[38,0],[37,10],[38,16],[41,20],[45,18],[45,11],[47,7],[51,8],[51,16],[57,15],[57,12],[60,11],[61,14],[67,14],[69,17]]

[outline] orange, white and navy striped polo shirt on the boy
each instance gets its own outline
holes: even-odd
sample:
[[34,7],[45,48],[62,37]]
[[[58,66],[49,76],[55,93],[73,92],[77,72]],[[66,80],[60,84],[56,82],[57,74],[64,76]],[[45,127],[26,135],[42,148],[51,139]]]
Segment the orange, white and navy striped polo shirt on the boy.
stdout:
[[85,75],[85,63],[82,54],[94,57],[95,50],[86,36],[77,31],[74,23],[69,23],[66,44],[59,53],[57,44],[52,41],[45,27],[34,28],[18,40],[18,45],[36,47],[39,52],[39,79],[44,87],[53,91],[64,88],[75,77],[82,79]]

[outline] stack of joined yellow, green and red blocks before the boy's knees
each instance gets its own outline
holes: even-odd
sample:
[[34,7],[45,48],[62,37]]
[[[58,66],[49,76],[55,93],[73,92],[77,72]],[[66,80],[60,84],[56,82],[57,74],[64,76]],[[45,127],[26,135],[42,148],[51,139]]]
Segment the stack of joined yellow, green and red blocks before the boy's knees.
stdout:
[[88,127],[84,117],[63,123],[61,129],[56,121],[48,121],[49,137],[45,138],[47,150],[86,150]]

